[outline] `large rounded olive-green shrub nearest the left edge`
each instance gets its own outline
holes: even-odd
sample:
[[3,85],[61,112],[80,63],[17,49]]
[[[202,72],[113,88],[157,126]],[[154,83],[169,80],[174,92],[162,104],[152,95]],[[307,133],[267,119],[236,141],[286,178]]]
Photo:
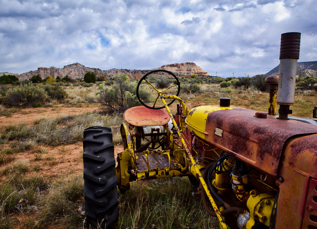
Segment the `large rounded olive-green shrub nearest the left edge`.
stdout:
[[35,103],[43,103],[47,95],[44,88],[33,84],[11,87],[3,98],[6,106],[30,107]]

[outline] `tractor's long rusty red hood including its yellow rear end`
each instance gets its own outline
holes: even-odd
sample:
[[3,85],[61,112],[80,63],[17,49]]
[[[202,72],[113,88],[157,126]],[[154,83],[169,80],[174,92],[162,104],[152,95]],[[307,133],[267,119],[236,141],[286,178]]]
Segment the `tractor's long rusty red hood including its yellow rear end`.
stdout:
[[[317,133],[317,126],[272,115],[256,118],[255,114],[239,107],[200,106],[189,112],[185,122],[198,137],[276,177],[284,143]],[[309,142],[316,143],[317,135],[312,135]],[[315,163],[316,150],[310,151]]]

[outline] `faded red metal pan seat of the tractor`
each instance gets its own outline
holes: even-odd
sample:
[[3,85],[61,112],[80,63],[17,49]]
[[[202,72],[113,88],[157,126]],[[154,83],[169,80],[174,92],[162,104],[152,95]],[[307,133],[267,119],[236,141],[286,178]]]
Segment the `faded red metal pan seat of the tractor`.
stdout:
[[145,106],[135,106],[126,110],[124,120],[133,126],[160,126],[170,121],[170,117],[164,110],[152,110]]

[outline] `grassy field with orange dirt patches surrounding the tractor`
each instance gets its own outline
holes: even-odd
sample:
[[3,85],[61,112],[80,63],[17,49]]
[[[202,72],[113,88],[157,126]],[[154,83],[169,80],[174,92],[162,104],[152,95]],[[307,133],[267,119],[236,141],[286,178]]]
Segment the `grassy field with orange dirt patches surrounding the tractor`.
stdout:
[[[0,105],[0,229],[83,228],[82,132],[89,126],[109,126],[116,148],[122,148],[122,114],[102,113],[95,96],[98,85],[64,88],[67,99],[43,107]],[[206,84],[200,93],[181,92],[180,97],[190,109],[218,105],[228,97],[232,106],[268,110],[268,93],[254,88]],[[296,91],[291,109],[294,116],[311,118],[316,104],[314,91]],[[217,219],[192,192],[187,177],[134,182],[119,195],[120,217],[114,227],[218,228]]]

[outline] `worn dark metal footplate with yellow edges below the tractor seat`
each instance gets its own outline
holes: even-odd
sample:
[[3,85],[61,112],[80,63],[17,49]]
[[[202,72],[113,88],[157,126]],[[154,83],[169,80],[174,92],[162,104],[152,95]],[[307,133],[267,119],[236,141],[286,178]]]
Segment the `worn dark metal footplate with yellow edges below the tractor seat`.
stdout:
[[[171,166],[170,166],[169,158],[168,158],[168,155],[166,154],[148,154],[146,156],[142,152],[140,152],[140,153],[135,153],[135,156],[136,156],[136,166],[138,168],[138,172],[182,168],[182,165],[178,163],[178,161],[173,156],[170,156],[171,158]],[[148,169],[148,165],[150,169]]]

